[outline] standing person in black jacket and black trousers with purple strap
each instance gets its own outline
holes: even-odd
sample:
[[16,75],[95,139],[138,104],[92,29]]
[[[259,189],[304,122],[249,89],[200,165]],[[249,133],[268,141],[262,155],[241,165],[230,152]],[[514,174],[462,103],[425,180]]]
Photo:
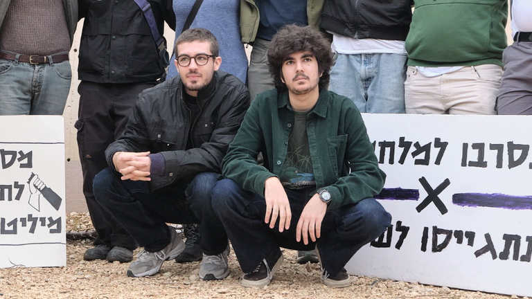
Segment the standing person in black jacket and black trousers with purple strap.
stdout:
[[[134,0],[79,0],[85,18],[80,43],[80,107],[76,129],[83,172],[83,193],[98,238],[85,260],[130,262],[137,244],[94,198],[94,176],[107,167],[105,149],[125,129],[136,96],[154,87],[168,66],[143,10]],[[175,27],[171,0],[149,0],[153,26],[163,35],[164,21]]]

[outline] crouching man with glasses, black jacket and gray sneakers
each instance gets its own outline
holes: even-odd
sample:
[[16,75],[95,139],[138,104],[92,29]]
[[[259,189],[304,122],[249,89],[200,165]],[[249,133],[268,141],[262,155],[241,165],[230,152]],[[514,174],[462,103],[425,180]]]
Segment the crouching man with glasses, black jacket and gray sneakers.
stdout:
[[199,224],[203,280],[229,275],[229,244],[211,206],[222,158],[249,107],[249,92],[218,71],[218,41],[202,28],[175,46],[179,76],[142,91],[123,135],[105,151],[96,200],[143,246],[127,275],[159,272],[185,244],[166,223]]

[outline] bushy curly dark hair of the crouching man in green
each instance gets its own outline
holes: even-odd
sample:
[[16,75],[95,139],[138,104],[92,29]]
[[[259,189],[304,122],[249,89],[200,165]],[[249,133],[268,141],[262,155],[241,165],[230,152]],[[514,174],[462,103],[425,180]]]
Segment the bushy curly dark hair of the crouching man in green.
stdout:
[[286,89],[286,85],[281,81],[285,58],[300,51],[309,51],[316,57],[319,72],[323,72],[319,78],[319,89],[327,88],[332,65],[330,42],[312,26],[287,25],[278,30],[268,48],[268,69],[276,89]]

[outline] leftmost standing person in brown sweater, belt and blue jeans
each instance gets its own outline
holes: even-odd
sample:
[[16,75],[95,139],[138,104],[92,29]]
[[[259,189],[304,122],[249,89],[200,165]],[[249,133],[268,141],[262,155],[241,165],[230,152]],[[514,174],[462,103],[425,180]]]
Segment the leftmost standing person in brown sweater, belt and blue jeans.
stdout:
[[62,115],[77,0],[0,1],[0,116]]

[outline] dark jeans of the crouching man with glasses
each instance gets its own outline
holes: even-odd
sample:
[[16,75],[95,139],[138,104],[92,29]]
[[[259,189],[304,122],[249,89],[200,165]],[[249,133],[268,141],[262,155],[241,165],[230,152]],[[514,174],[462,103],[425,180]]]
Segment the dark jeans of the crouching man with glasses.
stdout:
[[199,224],[199,246],[217,255],[227,246],[227,235],[211,205],[218,174],[197,174],[188,185],[174,183],[151,191],[145,181],[122,181],[106,168],[94,178],[96,200],[108,210],[146,251],[156,252],[170,243],[166,223]]

